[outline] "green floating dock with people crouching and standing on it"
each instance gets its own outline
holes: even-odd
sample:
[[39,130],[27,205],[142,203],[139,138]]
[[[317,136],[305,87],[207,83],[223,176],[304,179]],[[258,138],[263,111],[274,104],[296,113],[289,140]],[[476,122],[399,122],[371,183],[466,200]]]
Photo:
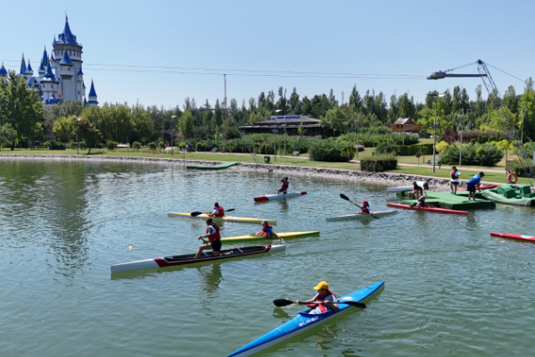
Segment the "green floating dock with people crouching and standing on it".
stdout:
[[[407,197],[407,192],[399,192],[400,197]],[[416,200],[405,199],[401,203],[411,204]],[[484,197],[476,191],[475,201],[468,201],[468,191],[457,191],[457,195],[446,192],[431,192],[427,191],[427,199],[425,203],[440,208],[449,208],[450,210],[466,211],[495,208],[496,203],[484,199]]]

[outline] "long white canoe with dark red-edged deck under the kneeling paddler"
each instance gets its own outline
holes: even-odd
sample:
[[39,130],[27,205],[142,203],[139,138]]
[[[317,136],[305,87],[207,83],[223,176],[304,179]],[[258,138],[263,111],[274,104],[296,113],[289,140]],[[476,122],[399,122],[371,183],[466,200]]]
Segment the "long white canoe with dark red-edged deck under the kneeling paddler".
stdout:
[[213,262],[223,259],[233,259],[248,255],[275,252],[284,250],[286,245],[260,245],[246,246],[243,248],[226,249],[221,251],[221,255],[213,256],[211,252],[202,252],[201,257],[194,259],[195,254],[173,255],[163,258],[145,259],[144,261],[124,262],[122,264],[111,265],[111,273],[118,273],[129,270],[144,270],[177,267],[179,265],[197,264],[201,262]]

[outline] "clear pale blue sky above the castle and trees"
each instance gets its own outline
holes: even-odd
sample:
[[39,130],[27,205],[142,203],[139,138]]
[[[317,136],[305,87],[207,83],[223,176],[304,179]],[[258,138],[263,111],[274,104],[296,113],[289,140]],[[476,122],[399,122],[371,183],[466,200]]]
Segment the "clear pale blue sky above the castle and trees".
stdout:
[[[328,94],[333,88],[338,100],[345,92],[347,102],[355,84],[361,95],[374,89],[390,100],[408,92],[418,102],[429,91],[459,85],[474,99],[481,79],[369,75],[428,76],[477,59],[520,79],[534,74],[535,2],[495,0],[4,2],[0,60],[5,67],[19,71],[24,53],[37,71],[44,46],[50,53],[53,36],[63,30],[65,11],[84,46],[86,87],[95,80],[101,104],[139,101],[169,108],[182,106],[186,96],[198,105],[206,99],[222,102],[222,73],[228,73],[227,98],[240,105],[261,91],[277,93],[281,86],[288,96],[296,87],[301,97]],[[290,74],[275,73],[283,71],[367,76],[266,76]],[[456,72],[477,73],[477,67]],[[509,85],[517,94],[523,92],[518,79],[492,68],[490,73],[502,94]]]

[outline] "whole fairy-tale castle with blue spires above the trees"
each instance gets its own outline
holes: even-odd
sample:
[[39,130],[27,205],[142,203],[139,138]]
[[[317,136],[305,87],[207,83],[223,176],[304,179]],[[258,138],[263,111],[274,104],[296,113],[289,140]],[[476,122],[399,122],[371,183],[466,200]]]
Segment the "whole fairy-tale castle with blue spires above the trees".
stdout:
[[[26,79],[29,87],[39,91],[41,101],[45,106],[67,100],[77,100],[88,106],[96,106],[98,101],[93,80],[89,95],[86,97],[82,53],[82,45],[77,42],[76,36],[70,31],[69,19],[65,16],[65,28],[58,35],[57,40],[55,36],[53,37],[50,55],[46,53],[45,47],[37,76],[34,77],[31,64],[29,60],[28,64],[26,63],[24,54],[22,54],[21,71],[18,75]],[[7,76],[4,63],[0,67],[0,76]]]

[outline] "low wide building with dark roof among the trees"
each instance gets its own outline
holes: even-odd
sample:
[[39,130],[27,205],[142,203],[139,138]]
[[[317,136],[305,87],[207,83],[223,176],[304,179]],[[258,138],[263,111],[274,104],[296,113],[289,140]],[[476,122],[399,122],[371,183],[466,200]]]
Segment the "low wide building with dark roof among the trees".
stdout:
[[323,129],[319,126],[319,119],[305,115],[274,116],[271,120],[257,121],[253,125],[238,127],[245,134],[272,134],[278,129],[279,134],[299,135],[298,129],[302,126],[307,136],[323,136]]

